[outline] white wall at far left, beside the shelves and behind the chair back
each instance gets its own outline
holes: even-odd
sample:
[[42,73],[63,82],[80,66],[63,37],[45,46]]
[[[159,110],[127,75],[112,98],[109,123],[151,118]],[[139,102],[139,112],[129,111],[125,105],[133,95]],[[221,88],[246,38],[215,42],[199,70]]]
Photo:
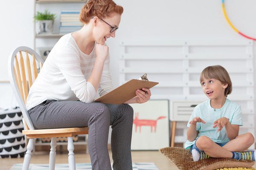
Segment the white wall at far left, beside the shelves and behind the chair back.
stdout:
[[9,83],[7,61],[18,46],[33,48],[34,0],[0,1],[0,108],[15,105]]

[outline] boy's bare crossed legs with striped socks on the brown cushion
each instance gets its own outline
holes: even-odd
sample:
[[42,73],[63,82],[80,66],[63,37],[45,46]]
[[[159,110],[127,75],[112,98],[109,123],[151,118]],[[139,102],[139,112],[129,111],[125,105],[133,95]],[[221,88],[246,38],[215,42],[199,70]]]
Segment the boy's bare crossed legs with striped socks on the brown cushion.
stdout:
[[[192,148],[192,156],[194,161],[213,158],[235,158],[235,159],[250,159],[255,161],[254,152],[244,154],[244,150],[254,143],[254,137],[251,133],[245,133],[237,136],[235,139],[227,142],[224,146],[216,144],[207,136],[200,136],[195,143],[198,150]],[[243,152],[243,153],[241,153]],[[206,153],[206,155],[204,154]]]

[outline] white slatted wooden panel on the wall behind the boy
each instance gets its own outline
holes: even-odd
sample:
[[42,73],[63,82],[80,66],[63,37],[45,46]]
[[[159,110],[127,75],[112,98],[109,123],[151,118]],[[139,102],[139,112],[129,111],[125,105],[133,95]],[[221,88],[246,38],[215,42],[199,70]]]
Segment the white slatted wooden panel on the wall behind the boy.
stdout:
[[[239,133],[255,134],[252,40],[123,41],[120,49],[120,84],[147,73],[150,81],[159,82],[151,89],[151,98],[169,99],[170,106],[172,102],[206,101],[200,73],[209,65],[222,65],[233,83],[228,99],[241,105],[244,126]],[[170,108],[170,120],[179,121],[175,142],[186,142],[188,116],[173,119],[173,114],[177,113]]]

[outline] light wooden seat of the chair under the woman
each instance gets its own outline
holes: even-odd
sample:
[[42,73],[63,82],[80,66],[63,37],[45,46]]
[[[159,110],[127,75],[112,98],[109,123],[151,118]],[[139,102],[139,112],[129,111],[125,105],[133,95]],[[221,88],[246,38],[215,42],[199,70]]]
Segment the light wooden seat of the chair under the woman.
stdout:
[[71,127],[60,129],[38,129],[22,130],[22,134],[28,139],[31,138],[51,138],[51,137],[71,137],[79,134],[88,134],[88,127]]

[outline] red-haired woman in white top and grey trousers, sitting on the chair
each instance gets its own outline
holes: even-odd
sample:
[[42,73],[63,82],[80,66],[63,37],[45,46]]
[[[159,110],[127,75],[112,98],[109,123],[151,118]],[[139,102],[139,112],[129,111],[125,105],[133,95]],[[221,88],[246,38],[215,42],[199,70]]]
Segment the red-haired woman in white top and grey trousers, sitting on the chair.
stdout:
[[[52,48],[33,83],[26,107],[35,129],[89,127],[88,147],[93,170],[111,170],[108,131],[114,170],[132,170],[133,109],[127,104],[92,102],[113,90],[108,46],[115,37],[123,8],[112,0],[89,0],[80,12],[81,30],[64,35]],[[149,89],[136,91],[125,103],[144,103]]]

